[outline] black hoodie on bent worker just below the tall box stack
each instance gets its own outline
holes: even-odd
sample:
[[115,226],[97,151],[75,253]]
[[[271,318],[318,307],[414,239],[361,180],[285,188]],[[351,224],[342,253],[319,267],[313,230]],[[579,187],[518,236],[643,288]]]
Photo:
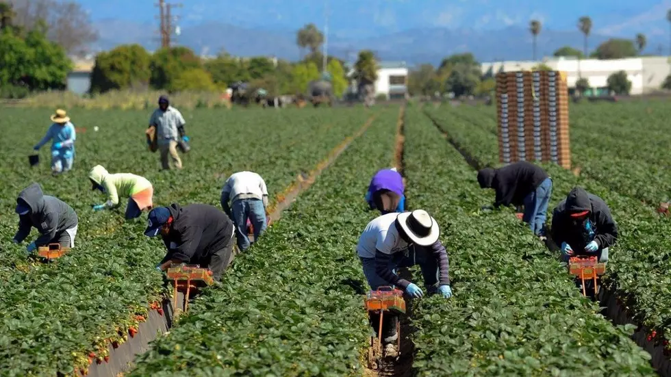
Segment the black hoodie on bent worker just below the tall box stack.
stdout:
[[496,190],[496,207],[524,204],[524,198],[547,178],[545,170],[527,161],[518,161],[496,170],[485,168],[478,172],[480,187]]

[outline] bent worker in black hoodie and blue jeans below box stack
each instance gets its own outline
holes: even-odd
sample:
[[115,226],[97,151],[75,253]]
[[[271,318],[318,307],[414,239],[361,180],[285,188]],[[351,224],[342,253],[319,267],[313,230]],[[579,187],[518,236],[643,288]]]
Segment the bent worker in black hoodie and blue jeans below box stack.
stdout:
[[494,207],[524,205],[522,220],[537,236],[545,235],[545,219],[552,194],[552,179],[539,166],[518,161],[503,168],[478,172],[481,188],[496,190]]

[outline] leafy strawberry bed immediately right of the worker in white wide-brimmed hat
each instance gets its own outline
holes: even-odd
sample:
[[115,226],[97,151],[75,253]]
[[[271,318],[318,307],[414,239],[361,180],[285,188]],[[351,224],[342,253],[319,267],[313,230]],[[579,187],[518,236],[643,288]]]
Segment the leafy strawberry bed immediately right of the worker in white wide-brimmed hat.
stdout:
[[455,293],[418,302],[420,375],[653,374],[649,354],[582,298],[566,269],[509,211],[478,211],[491,193],[427,117],[407,114],[408,196],[441,226]]

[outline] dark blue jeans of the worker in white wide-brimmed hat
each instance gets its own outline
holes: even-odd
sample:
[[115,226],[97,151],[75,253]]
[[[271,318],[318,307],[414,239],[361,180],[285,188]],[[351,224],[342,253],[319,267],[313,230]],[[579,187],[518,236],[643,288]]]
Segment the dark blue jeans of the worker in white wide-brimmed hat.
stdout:
[[[396,252],[389,263],[389,268],[396,273],[396,268],[412,267],[413,265],[420,265],[422,276],[424,277],[424,284],[427,287],[438,287],[438,260],[433,257],[433,254],[428,248],[419,246],[414,247],[415,250],[408,250],[407,256],[405,252]],[[375,271],[375,258],[363,258],[361,263],[364,266],[364,276],[370,285],[370,289],[375,290],[383,285],[391,285],[388,281],[381,278]]]

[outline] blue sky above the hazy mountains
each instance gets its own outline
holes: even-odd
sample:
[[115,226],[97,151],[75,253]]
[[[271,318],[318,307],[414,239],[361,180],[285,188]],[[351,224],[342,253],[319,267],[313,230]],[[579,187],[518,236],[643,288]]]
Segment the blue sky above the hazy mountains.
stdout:
[[[155,0],[79,0],[93,20],[155,23]],[[366,38],[425,27],[496,30],[526,27],[532,18],[544,28],[575,30],[577,18],[589,15],[594,32],[648,38],[667,36],[671,0],[183,0],[180,25],[207,21],[264,29],[323,26],[329,3],[329,34]]]

